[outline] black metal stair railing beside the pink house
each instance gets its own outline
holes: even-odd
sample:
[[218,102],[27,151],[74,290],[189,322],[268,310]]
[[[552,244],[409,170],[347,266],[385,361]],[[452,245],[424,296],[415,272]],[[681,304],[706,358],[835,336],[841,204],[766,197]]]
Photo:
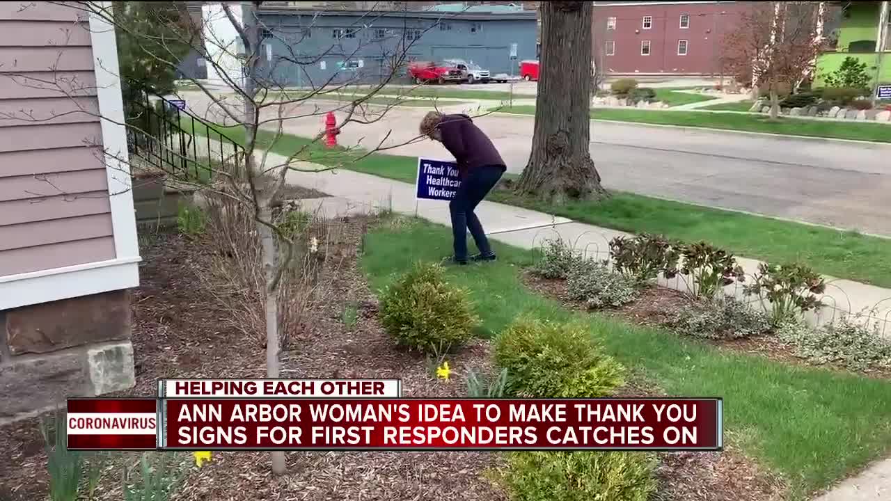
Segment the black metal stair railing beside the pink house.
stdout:
[[199,182],[208,182],[215,170],[241,172],[241,144],[220,127],[181,108],[184,103],[136,86],[128,86],[124,95],[129,153],[149,168]]

